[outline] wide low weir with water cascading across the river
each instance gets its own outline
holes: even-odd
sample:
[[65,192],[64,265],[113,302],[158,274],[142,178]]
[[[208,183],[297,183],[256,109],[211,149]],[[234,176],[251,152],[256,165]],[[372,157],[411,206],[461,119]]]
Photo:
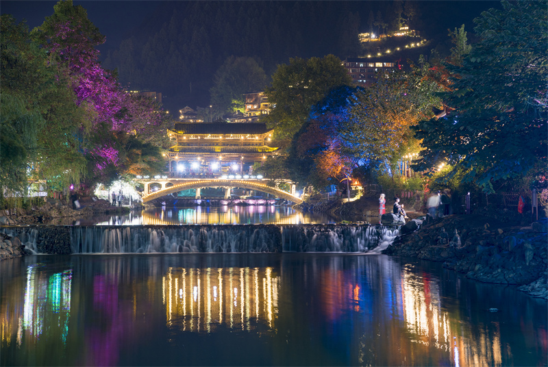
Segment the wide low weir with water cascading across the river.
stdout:
[[142,225],[3,227],[32,253],[380,253],[399,227]]

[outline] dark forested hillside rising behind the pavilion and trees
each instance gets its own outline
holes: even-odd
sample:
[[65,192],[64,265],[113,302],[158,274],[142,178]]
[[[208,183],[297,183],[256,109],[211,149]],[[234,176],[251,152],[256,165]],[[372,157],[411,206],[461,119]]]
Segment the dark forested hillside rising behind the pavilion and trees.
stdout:
[[230,55],[256,58],[267,75],[293,57],[355,56],[360,7],[331,1],[168,2],[103,65],[117,68],[121,82],[133,89],[162,92],[168,109],[206,105],[212,75]]

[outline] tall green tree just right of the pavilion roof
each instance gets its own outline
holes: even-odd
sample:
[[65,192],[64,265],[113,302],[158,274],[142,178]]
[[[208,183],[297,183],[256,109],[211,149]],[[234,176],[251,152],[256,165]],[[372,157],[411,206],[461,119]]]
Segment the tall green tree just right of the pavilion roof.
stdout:
[[310,108],[332,89],[350,85],[351,78],[339,58],[290,59],[279,65],[266,96],[273,105],[264,121],[275,128],[275,137],[290,140],[308,120]]

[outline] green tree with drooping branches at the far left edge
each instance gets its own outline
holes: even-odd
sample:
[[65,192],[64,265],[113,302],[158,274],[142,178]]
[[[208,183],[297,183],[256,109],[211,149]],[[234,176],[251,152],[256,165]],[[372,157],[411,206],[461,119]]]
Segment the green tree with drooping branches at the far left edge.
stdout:
[[21,191],[27,175],[77,183],[85,166],[77,133],[86,105],[75,105],[58,65],[30,40],[24,23],[1,16],[0,43],[3,187]]

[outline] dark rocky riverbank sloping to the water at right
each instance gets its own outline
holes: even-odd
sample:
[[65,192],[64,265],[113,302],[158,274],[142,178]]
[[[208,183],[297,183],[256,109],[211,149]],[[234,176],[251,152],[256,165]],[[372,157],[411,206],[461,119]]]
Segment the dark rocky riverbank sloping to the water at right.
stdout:
[[474,214],[427,218],[383,253],[443,262],[469,279],[521,286],[548,301],[546,218],[529,226]]

